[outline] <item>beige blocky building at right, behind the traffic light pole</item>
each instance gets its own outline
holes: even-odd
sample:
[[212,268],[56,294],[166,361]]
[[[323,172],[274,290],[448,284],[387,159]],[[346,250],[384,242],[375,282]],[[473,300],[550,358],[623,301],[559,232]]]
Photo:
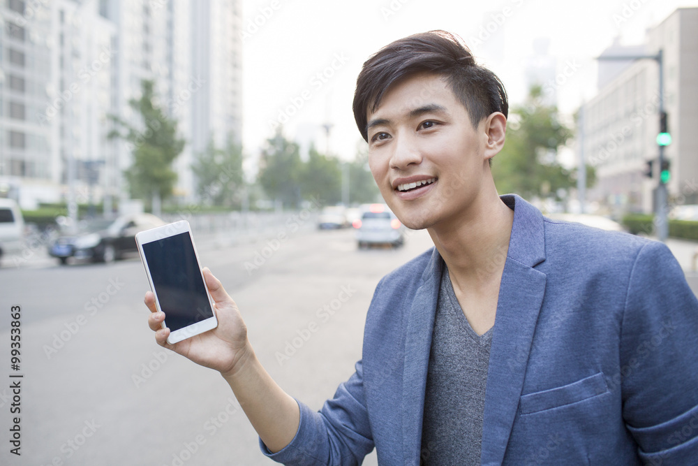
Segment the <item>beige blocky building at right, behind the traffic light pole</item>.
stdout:
[[[617,43],[607,56],[656,55],[662,50],[664,108],[673,142],[664,157],[671,163],[669,207],[698,203],[698,8],[678,8],[648,30],[644,47]],[[652,212],[659,169],[656,137],[660,129],[659,70],[654,59],[600,64],[598,94],[584,105],[584,155],[595,167],[596,186],[588,192],[616,214]],[[647,161],[653,177],[644,175]]]

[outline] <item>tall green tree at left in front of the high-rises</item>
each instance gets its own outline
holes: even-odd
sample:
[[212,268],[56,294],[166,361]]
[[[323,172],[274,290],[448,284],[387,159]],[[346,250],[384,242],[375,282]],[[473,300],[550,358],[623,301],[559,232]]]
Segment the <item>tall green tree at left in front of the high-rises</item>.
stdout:
[[172,196],[177,182],[172,162],[184,150],[185,142],[177,136],[177,120],[165,115],[156,104],[154,82],[142,80],[141,87],[140,99],[128,103],[140,114],[144,127],[137,128],[112,115],[118,129],[108,137],[126,140],[132,147],[133,164],[124,172],[131,197],[152,199],[159,204],[161,199]]

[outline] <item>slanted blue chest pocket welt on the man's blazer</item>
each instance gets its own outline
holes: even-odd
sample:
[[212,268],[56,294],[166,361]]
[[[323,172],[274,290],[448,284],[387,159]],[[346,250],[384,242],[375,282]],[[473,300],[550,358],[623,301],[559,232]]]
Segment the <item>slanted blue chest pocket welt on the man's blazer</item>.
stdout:
[[609,391],[603,372],[550,390],[522,395],[519,400],[521,414],[533,414],[546,409],[572,405],[603,395]]

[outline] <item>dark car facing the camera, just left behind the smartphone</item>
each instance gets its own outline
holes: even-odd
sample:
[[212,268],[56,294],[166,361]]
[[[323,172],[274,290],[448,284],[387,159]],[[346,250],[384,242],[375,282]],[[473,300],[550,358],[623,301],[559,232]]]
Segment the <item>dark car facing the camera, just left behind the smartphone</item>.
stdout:
[[138,252],[135,234],[165,225],[153,214],[131,214],[117,219],[87,219],[75,231],[59,236],[49,247],[49,255],[66,265],[68,259],[110,263],[125,254]]

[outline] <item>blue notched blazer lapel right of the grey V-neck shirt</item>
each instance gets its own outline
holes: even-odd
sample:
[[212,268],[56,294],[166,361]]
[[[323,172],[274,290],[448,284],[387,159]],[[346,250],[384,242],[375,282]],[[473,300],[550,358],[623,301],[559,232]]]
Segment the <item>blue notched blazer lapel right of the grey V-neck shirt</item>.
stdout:
[[490,349],[482,425],[483,465],[502,464],[519,407],[528,354],[545,292],[545,274],[533,267],[545,259],[542,214],[519,196],[500,284]]

